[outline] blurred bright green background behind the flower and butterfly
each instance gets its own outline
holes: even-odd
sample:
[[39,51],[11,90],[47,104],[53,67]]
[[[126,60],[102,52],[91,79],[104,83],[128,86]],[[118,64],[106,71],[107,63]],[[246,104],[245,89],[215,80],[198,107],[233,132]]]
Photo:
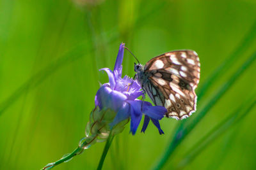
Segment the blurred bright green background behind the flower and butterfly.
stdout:
[[[1,0],[0,169],[40,169],[76,148],[99,81],[108,81],[98,70],[113,69],[121,42],[141,63],[170,50],[195,50],[201,62],[200,89],[251,30],[250,43],[214,81],[200,108],[255,52],[255,20],[255,0]],[[134,76],[134,61],[125,51],[123,74]],[[255,92],[255,68],[254,62],[207,112],[164,169],[177,169],[199,139]],[[256,169],[255,113],[253,108],[184,169]],[[193,117],[196,113],[188,121]],[[103,169],[150,169],[177,124],[161,120],[162,136],[152,124],[145,134],[140,125],[132,136],[127,124],[113,140]],[[104,143],[97,143],[54,169],[96,169],[103,148]]]

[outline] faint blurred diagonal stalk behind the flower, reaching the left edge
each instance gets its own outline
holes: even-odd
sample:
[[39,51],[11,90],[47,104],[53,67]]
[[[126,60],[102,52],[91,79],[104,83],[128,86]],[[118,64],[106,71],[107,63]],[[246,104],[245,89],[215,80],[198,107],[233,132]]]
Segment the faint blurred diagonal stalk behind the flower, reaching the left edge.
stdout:
[[[161,4],[158,6],[158,8],[153,8],[150,9],[151,11],[148,11],[147,14],[156,14],[157,11],[161,11],[161,9],[164,8],[164,5]],[[141,23],[145,22],[145,20],[148,19],[148,15],[143,15],[138,20],[136,20],[136,24],[141,25]],[[106,43],[112,43],[116,39],[118,39],[118,34],[116,33],[117,27],[113,27],[111,31],[108,31],[108,35],[110,38],[108,38],[108,41]],[[115,33],[113,33],[115,32]],[[74,62],[77,59],[81,59],[86,55],[89,55],[90,53],[94,52],[95,48],[92,46],[87,46],[86,50],[86,45],[90,44],[89,41],[83,41],[82,43],[79,43],[77,46],[74,46],[70,51],[66,52],[60,59],[52,62],[48,66],[46,66],[44,69],[41,71],[38,71],[35,75],[31,76],[25,83],[20,85],[19,88],[17,88],[7,99],[5,99],[3,102],[0,103],[0,116],[4,113],[4,111],[12,106],[17,99],[19,99],[24,92],[29,91],[42,83],[46,78],[51,76],[51,74],[55,73],[58,69],[61,67],[70,64],[71,62]]]

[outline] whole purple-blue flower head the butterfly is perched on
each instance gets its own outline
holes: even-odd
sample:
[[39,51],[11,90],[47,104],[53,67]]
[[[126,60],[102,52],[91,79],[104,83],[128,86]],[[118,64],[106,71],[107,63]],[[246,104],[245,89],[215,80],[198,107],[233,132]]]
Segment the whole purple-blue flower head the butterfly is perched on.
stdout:
[[160,134],[163,134],[159,121],[164,117],[166,109],[163,106],[152,106],[151,103],[137,99],[143,96],[143,91],[136,80],[129,76],[122,78],[122,61],[124,57],[124,43],[121,43],[114,70],[103,68],[109,77],[109,83],[104,83],[95,96],[95,106],[109,108],[116,112],[116,116],[110,127],[114,127],[122,120],[131,118],[131,132],[135,134],[140,124],[142,115],[145,120],[141,132],[145,132],[150,120],[157,127]]

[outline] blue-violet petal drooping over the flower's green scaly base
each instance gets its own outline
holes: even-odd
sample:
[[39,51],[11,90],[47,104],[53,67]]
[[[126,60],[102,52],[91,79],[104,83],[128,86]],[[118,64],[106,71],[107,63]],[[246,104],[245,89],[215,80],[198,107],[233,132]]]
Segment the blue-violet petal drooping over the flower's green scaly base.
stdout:
[[119,122],[122,122],[123,120],[129,118],[130,117],[130,113],[131,113],[130,110],[131,110],[130,104],[124,103],[122,108],[120,108],[118,110],[118,112],[116,113],[116,116],[115,116],[113,122],[111,122],[111,124],[109,124],[109,126],[112,128],[116,124],[118,124]]

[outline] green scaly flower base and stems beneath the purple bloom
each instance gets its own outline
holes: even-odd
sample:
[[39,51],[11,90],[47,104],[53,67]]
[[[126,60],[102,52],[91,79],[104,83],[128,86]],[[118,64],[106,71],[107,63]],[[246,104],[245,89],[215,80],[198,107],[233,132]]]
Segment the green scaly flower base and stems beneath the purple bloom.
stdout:
[[[129,118],[119,122],[114,127],[109,129],[109,123],[113,122],[113,118],[116,113],[113,110],[99,107],[95,107],[90,114],[90,121],[86,126],[85,137],[79,141],[79,144],[72,153],[65,154],[60,160],[47,164],[43,169],[51,169],[58,164],[63,162],[68,162],[76,155],[83,153],[84,150],[90,148],[93,144],[99,142],[106,142],[104,152],[102,153],[102,158],[100,159],[100,165],[102,167],[104,159],[108,153],[109,146],[113,140],[113,136],[124,130],[124,125],[129,122]],[[100,169],[101,169],[100,167]]]

